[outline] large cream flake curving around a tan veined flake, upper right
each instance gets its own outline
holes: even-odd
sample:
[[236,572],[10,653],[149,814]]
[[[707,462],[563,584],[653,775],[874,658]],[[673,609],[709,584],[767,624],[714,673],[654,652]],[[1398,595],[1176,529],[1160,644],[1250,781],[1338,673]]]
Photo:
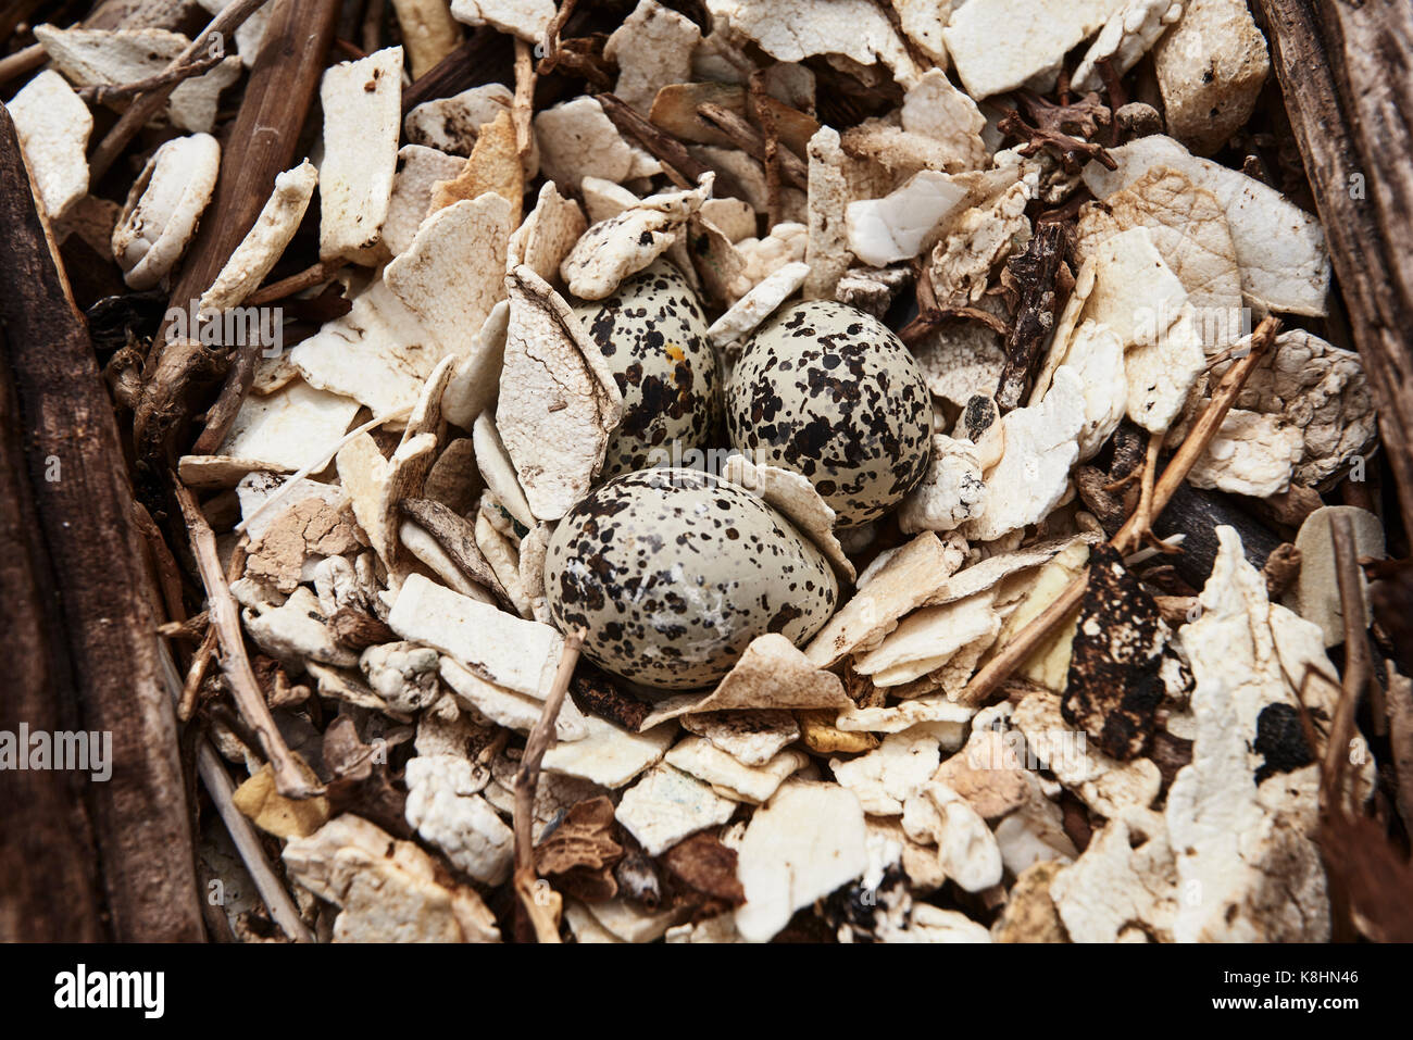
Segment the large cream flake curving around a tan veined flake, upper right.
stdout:
[[1099,162],[1084,168],[1084,182],[1096,198],[1108,199],[1156,165],[1178,170],[1225,209],[1249,304],[1290,314],[1327,312],[1330,254],[1314,215],[1241,171],[1197,158],[1171,137],[1140,137],[1109,154],[1118,170]]

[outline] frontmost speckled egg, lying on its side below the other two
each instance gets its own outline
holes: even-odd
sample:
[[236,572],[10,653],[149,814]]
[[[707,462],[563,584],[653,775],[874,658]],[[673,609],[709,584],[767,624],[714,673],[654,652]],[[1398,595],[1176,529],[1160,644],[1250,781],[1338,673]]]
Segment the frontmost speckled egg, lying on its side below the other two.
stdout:
[[697,469],[616,478],[550,537],[545,596],[564,632],[623,678],[694,690],[725,675],[756,636],[796,644],[834,613],[829,562],[745,488]]

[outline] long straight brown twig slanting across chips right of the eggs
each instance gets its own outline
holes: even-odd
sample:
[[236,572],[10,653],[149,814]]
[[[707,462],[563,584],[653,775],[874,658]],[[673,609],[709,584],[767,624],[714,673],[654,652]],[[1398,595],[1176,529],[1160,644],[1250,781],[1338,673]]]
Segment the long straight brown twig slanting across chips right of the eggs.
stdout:
[[[1252,370],[1265,358],[1279,331],[1280,319],[1277,318],[1266,318],[1256,328],[1251,341],[1251,352],[1234,365],[1218,384],[1207,410],[1193,424],[1187,439],[1183,441],[1183,445],[1167,463],[1167,469],[1163,471],[1163,476],[1154,485],[1150,517],[1157,517],[1163,512],[1173,493],[1187,479],[1187,473],[1193,465],[1207,451],[1207,445],[1211,444],[1212,437],[1221,428],[1222,420],[1226,418],[1232,401],[1236,400],[1236,394],[1241,393]],[[1137,548],[1143,530],[1146,527],[1140,527],[1140,517],[1135,513],[1118,530],[1113,538],[1109,540],[1109,544],[1118,550],[1119,555],[1128,555]],[[1078,609],[1084,601],[1085,585],[1088,585],[1088,574],[1081,574],[1070,582],[1058,599],[1036,615],[1026,627],[1016,633],[1016,637],[1010,643],[1002,647],[1000,653],[992,657],[972,677],[971,682],[958,694],[957,702],[965,705],[985,704],[1000,688],[1000,684],[1010,677],[1010,673],[1020,667],[1036,651],[1036,647],[1048,639]]]

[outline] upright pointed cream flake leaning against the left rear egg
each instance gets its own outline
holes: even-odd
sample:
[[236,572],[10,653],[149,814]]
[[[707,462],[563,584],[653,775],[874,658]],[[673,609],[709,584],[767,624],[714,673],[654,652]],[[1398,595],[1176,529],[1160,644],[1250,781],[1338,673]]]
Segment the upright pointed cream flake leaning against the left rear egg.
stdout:
[[558,520],[603,465],[623,394],[584,324],[544,278],[521,266],[506,287],[510,325],[496,427],[536,519]]

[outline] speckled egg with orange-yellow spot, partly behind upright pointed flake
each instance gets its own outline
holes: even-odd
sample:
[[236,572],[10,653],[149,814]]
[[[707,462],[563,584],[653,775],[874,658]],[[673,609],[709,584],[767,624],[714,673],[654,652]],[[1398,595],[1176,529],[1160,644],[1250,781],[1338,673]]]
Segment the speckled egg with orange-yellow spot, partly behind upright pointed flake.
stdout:
[[608,300],[578,304],[574,312],[623,393],[623,421],[609,439],[602,475],[666,465],[705,447],[721,411],[721,370],[706,317],[681,273],[657,260]]

